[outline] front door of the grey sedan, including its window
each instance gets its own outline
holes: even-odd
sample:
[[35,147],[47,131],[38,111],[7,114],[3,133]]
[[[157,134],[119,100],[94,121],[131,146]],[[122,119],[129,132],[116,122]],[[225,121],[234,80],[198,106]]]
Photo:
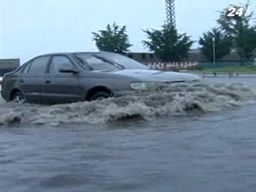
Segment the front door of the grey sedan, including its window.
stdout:
[[76,66],[66,55],[52,57],[44,81],[44,95],[47,102],[78,102],[83,99],[80,94],[79,73],[74,73],[75,71],[77,71]]

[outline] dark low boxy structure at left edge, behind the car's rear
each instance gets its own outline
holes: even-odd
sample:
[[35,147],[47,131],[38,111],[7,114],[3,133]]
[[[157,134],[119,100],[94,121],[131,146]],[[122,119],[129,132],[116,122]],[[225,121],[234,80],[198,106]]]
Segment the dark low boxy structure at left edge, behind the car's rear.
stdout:
[[0,59],[0,77],[20,67],[20,59]]

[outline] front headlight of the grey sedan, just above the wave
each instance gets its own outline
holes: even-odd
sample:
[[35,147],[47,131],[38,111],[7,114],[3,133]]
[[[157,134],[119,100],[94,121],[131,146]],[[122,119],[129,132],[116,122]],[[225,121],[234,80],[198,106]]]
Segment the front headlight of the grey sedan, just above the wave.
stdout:
[[157,88],[160,88],[160,86],[163,86],[163,82],[147,82],[147,81],[141,81],[141,82],[132,82],[130,84],[132,90],[154,90]]

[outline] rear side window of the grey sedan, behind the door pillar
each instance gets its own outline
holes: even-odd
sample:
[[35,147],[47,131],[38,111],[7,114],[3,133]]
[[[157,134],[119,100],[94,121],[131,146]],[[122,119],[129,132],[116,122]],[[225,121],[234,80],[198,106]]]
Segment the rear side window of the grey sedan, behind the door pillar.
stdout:
[[29,75],[42,75],[46,71],[46,67],[49,62],[49,56],[41,56],[32,61],[29,65],[28,74]]

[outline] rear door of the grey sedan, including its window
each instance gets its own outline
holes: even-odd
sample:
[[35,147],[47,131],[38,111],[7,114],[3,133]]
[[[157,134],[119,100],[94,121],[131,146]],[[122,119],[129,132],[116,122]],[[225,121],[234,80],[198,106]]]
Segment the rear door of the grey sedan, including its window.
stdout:
[[44,102],[44,75],[50,56],[40,56],[23,68],[19,86],[28,102]]

